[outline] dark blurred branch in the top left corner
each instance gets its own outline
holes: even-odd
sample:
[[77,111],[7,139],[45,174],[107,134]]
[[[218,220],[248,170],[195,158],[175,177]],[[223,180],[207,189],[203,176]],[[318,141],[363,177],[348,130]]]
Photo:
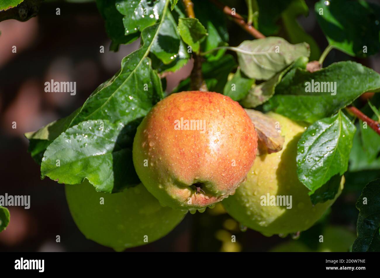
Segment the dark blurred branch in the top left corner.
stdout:
[[43,0],[24,0],[14,8],[0,11],[0,22],[7,19],[27,21],[37,15]]

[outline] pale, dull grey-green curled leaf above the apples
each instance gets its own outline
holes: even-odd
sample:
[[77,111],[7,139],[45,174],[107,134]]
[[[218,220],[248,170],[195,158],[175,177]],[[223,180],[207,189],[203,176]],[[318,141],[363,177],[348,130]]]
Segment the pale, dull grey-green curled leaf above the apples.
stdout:
[[293,45],[281,37],[244,41],[234,50],[242,72],[257,80],[268,80],[299,57],[310,54],[306,43]]

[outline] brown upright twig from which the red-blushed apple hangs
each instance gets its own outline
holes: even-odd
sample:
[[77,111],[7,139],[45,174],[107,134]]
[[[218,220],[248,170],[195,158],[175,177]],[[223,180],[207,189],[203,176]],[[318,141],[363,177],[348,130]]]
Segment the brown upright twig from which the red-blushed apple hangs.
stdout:
[[[191,0],[183,0],[188,17],[195,18],[194,4]],[[194,66],[190,73],[190,89],[193,91],[208,91],[202,75],[202,57],[193,52]]]

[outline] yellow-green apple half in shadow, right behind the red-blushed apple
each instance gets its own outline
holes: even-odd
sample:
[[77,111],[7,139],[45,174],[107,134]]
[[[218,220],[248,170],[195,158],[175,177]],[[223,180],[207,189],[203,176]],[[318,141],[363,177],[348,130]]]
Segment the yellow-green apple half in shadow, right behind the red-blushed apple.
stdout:
[[[260,155],[236,193],[223,200],[226,211],[242,225],[265,236],[287,235],[310,228],[334,203],[343,188],[344,178],[334,200],[313,206],[307,189],[297,176],[297,142],[305,125],[293,122],[279,114],[268,113],[279,122],[285,142],[281,151]],[[286,206],[265,205],[267,196],[292,197],[290,209]],[[263,205],[262,205],[263,204]],[[268,203],[267,203],[268,204]]]

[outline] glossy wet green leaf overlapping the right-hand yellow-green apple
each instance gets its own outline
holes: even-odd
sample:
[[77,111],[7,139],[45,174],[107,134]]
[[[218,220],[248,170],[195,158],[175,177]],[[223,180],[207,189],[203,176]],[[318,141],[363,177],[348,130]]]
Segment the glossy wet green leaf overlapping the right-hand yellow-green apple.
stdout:
[[302,133],[297,144],[297,175],[311,194],[347,170],[354,134],[355,125],[341,111]]

